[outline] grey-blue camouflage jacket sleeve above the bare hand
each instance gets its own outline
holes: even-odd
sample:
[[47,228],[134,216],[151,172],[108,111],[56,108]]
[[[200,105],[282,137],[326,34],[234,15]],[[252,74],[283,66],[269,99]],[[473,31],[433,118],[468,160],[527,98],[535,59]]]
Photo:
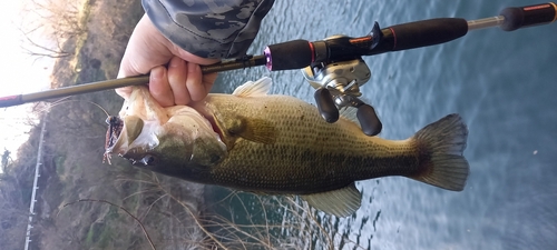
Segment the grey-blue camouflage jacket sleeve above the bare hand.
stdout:
[[168,40],[202,58],[237,58],[252,44],[274,0],[141,0]]

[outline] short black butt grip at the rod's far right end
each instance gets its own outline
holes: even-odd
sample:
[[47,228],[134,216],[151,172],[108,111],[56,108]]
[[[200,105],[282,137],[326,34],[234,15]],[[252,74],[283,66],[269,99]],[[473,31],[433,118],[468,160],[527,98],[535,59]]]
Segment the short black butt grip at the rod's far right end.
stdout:
[[510,7],[501,11],[505,17],[501,29],[512,31],[525,27],[539,26],[557,20],[557,6],[553,2],[527,6]]

